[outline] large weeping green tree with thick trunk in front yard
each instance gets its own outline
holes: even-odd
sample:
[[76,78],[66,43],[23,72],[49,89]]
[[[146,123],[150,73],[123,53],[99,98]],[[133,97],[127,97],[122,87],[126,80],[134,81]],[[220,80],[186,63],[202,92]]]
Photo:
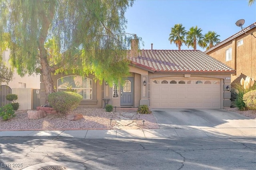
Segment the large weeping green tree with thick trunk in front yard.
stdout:
[[[52,73],[94,74],[102,82],[128,76],[124,13],[133,0],[1,0],[0,42],[10,34],[10,61],[18,74],[38,68],[46,96]],[[48,99],[46,97],[46,105]]]

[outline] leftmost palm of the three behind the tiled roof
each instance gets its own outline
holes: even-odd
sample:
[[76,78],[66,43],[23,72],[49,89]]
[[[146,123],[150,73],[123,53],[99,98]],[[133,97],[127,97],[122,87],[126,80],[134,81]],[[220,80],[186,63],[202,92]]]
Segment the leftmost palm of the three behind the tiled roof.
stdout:
[[178,49],[180,50],[182,43],[186,44],[185,35],[185,27],[183,27],[181,23],[175,24],[174,27],[171,28],[169,41],[170,43],[174,42],[176,44],[176,47],[178,47]]

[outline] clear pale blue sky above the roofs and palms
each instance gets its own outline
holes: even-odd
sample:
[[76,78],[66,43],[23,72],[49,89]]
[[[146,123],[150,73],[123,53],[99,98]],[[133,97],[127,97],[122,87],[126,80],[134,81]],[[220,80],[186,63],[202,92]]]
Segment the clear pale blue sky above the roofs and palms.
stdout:
[[[190,27],[202,29],[204,35],[215,31],[220,41],[241,30],[235,25],[237,20],[244,19],[243,27],[256,22],[256,2],[248,5],[248,0],[136,0],[126,11],[127,33],[142,37],[144,46],[140,49],[178,49],[170,44],[171,27],[182,23],[186,30]],[[182,45],[182,50],[192,47]],[[197,49],[205,51],[198,47]]]

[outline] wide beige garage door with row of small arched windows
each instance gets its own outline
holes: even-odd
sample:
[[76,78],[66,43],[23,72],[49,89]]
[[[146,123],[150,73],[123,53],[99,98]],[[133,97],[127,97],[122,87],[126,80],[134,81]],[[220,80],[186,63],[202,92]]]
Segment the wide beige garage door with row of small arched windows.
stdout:
[[151,108],[220,109],[220,80],[151,79]]

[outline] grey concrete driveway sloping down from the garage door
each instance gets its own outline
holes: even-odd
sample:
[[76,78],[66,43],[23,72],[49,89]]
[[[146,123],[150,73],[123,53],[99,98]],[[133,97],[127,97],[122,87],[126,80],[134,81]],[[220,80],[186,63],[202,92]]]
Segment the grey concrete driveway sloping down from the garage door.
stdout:
[[223,109],[151,109],[151,111],[160,129],[256,128],[256,119]]

